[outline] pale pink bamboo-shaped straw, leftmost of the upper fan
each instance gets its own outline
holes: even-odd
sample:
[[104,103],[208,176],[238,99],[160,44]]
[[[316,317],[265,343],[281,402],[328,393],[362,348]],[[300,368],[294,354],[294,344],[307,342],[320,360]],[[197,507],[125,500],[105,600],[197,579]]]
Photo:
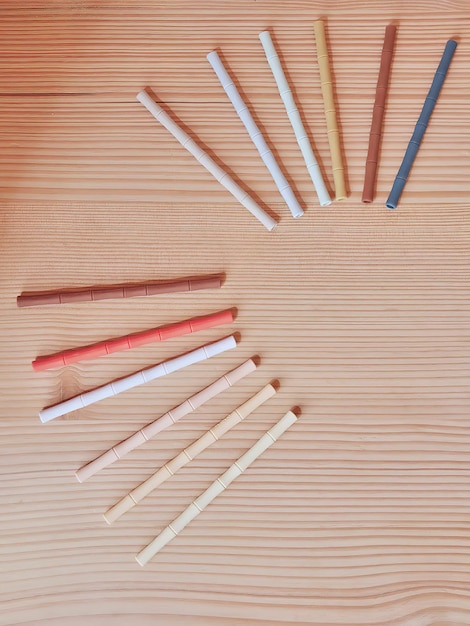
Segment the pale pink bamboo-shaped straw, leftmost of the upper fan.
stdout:
[[177,139],[183,148],[203,165],[208,172],[223,186],[230,191],[238,202],[258,219],[268,230],[273,230],[276,220],[268,215],[255,200],[238,185],[233,178],[205,152],[194,139],[172,120],[172,118],[158,105],[146,91],[137,94],[137,100],[141,102],[149,113]]

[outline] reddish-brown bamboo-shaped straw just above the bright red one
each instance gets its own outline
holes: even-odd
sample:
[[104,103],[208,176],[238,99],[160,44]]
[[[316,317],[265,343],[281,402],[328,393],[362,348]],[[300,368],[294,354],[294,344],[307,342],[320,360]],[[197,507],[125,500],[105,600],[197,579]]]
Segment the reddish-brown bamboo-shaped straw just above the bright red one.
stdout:
[[19,307],[40,306],[43,304],[66,304],[75,302],[94,302],[112,298],[134,298],[135,296],[155,296],[161,293],[198,291],[199,289],[218,289],[222,284],[220,276],[206,276],[167,282],[149,282],[143,284],[113,285],[111,287],[87,287],[85,289],[50,291],[48,293],[21,294],[16,298]]

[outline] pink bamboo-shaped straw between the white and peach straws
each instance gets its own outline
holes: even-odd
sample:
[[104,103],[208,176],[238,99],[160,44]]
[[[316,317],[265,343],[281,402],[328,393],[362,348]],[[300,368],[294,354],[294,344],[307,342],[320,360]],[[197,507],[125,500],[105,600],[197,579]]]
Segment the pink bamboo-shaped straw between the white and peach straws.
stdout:
[[126,454],[135,450],[135,448],[141,446],[152,437],[155,437],[159,432],[172,426],[178,420],[180,420],[185,415],[188,415],[192,411],[195,411],[200,406],[208,402],[211,398],[214,398],[219,393],[226,391],[232,385],[237,383],[239,380],[251,374],[256,369],[256,363],[252,359],[248,359],[241,365],[239,365],[234,370],[227,372],[221,378],[218,378],[208,387],[205,387],[198,393],[187,398],[184,402],[171,409],[158,419],[150,422],[133,435],[124,439],[117,445],[113,446],[99,457],[90,461],[86,465],[83,465],[77,472],[75,476],[77,477],[78,482],[83,483],[85,480],[88,480],[91,476],[104,469],[108,465],[111,465],[115,461],[122,459]]

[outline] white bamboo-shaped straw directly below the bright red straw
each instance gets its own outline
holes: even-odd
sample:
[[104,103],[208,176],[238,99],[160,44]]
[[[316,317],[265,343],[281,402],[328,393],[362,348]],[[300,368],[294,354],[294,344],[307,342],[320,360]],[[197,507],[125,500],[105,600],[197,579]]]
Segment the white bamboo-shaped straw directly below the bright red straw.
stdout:
[[160,378],[160,376],[166,376],[166,374],[176,372],[176,370],[183,367],[187,367],[193,363],[198,363],[199,361],[204,361],[205,359],[209,359],[211,356],[215,356],[216,354],[220,354],[226,350],[231,350],[232,348],[235,348],[236,345],[237,342],[235,341],[235,337],[233,335],[220,339],[219,341],[215,341],[214,343],[208,343],[205,346],[201,346],[200,348],[187,352],[186,354],[182,354],[181,356],[177,356],[167,361],[162,361],[153,367],[140,370],[134,374],[125,376],[124,378],[114,380],[107,385],[103,385],[102,387],[96,387],[96,389],[85,391],[79,396],[75,396],[69,400],[65,400],[64,402],[59,402],[58,404],[49,406],[42,411],[39,411],[39,419],[43,423],[49,422],[60,415],[76,411],[77,409],[89,406],[90,404],[94,404],[95,402],[99,402],[105,398],[116,396],[122,391],[132,389],[138,385],[143,385],[144,383],[148,383],[155,378]]

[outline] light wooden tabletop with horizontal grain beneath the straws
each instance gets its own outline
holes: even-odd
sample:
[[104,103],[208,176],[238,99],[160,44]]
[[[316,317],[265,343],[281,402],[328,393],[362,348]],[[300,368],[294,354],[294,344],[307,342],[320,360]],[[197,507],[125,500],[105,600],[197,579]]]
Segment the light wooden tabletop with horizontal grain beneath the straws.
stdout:
[[[3,0],[0,624],[470,623],[468,0]],[[318,206],[258,33],[331,187],[327,21],[350,197]],[[385,26],[398,26],[372,205]],[[398,210],[384,203],[459,41]],[[218,48],[305,209],[294,220],[205,55]],[[280,217],[268,233],[136,101],[150,87]],[[20,309],[23,291],[222,273],[220,290]],[[207,330],[59,370],[38,355],[227,307]],[[38,411],[230,332],[236,350],[43,425]],[[75,470],[258,355],[257,371],[79,484]],[[109,527],[102,513],[271,380],[262,409]],[[158,532],[289,408],[291,430],[145,568]]]

